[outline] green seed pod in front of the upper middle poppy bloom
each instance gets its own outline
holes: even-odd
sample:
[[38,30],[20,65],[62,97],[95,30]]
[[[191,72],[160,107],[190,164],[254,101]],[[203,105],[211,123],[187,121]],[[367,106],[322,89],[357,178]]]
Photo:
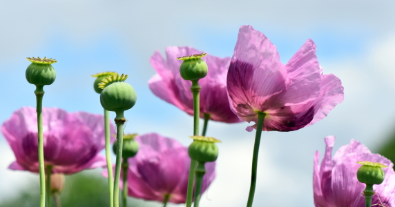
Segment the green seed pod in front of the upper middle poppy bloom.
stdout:
[[199,80],[207,75],[207,64],[201,58],[207,55],[206,53],[177,57],[183,60],[180,66],[180,75],[183,79],[193,81]]

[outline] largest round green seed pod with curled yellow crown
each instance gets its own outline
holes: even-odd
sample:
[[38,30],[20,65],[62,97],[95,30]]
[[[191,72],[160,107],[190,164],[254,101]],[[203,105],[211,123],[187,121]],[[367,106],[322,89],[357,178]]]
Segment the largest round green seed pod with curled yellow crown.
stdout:
[[100,103],[105,110],[117,114],[115,119],[124,119],[124,111],[135,106],[137,100],[135,89],[124,82],[127,78],[128,75],[115,75],[99,83],[99,88],[103,89],[100,93]]

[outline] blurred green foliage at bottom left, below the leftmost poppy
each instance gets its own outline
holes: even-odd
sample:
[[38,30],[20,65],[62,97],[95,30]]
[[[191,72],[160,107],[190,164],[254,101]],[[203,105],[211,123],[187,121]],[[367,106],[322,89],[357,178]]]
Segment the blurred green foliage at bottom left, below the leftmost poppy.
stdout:
[[[66,184],[61,193],[62,207],[108,207],[107,179],[100,175],[102,170],[85,170],[75,175],[66,175]],[[19,195],[10,197],[0,207],[36,207],[39,206],[39,181],[26,184]],[[159,202],[128,198],[128,206],[159,207]],[[52,202],[52,207],[55,204]]]

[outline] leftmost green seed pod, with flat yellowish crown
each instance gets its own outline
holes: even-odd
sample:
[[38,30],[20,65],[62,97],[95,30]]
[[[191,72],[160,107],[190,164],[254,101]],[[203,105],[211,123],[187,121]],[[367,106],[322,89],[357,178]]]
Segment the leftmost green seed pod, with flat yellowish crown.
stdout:
[[52,67],[52,63],[56,63],[55,59],[47,59],[46,57],[28,57],[28,61],[32,62],[26,69],[26,80],[36,86],[50,85],[55,81],[56,72]]

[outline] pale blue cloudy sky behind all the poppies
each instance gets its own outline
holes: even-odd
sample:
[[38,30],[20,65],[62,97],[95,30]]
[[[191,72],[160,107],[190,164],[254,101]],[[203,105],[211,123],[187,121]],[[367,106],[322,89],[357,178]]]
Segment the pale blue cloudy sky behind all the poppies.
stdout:
[[[279,206],[278,200],[283,206],[314,206],[313,156],[315,150],[322,154],[325,136],[338,137],[335,149],[350,139],[374,149],[392,132],[395,72],[391,68],[395,63],[388,54],[395,54],[395,30],[389,27],[395,19],[394,2],[200,1],[193,7],[185,1],[151,3],[155,6],[142,1],[4,3],[0,8],[6,31],[0,33],[0,122],[22,106],[35,106],[35,87],[24,77],[30,63],[25,58],[46,56],[58,63],[53,64],[55,83],[44,88],[44,106],[100,114],[90,75],[107,70],[126,73],[137,92],[135,107],[125,114],[126,132],[158,132],[186,146],[191,141],[186,137],[192,132],[192,118],[148,89],[147,81],[155,74],[149,57],[166,46],[193,46],[211,55],[231,56],[238,28],[251,24],[277,46],[283,63],[313,39],[324,72],[334,73],[345,86],[345,101],[314,126],[262,134],[256,206]],[[209,124],[208,135],[223,143],[218,177],[209,190],[210,200],[203,199],[202,205],[242,206],[247,201],[249,170],[243,169],[250,168],[254,134],[246,132],[246,126]],[[12,181],[19,181],[17,188],[22,188],[23,177],[38,179],[30,172],[7,170],[14,157],[4,139],[0,147],[5,157],[0,161],[4,186],[0,192]],[[233,161],[240,164],[238,169],[230,167]],[[233,177],[240,179],[231,186],[228,181]],[[8,195],[12,190],[3,194]]]

